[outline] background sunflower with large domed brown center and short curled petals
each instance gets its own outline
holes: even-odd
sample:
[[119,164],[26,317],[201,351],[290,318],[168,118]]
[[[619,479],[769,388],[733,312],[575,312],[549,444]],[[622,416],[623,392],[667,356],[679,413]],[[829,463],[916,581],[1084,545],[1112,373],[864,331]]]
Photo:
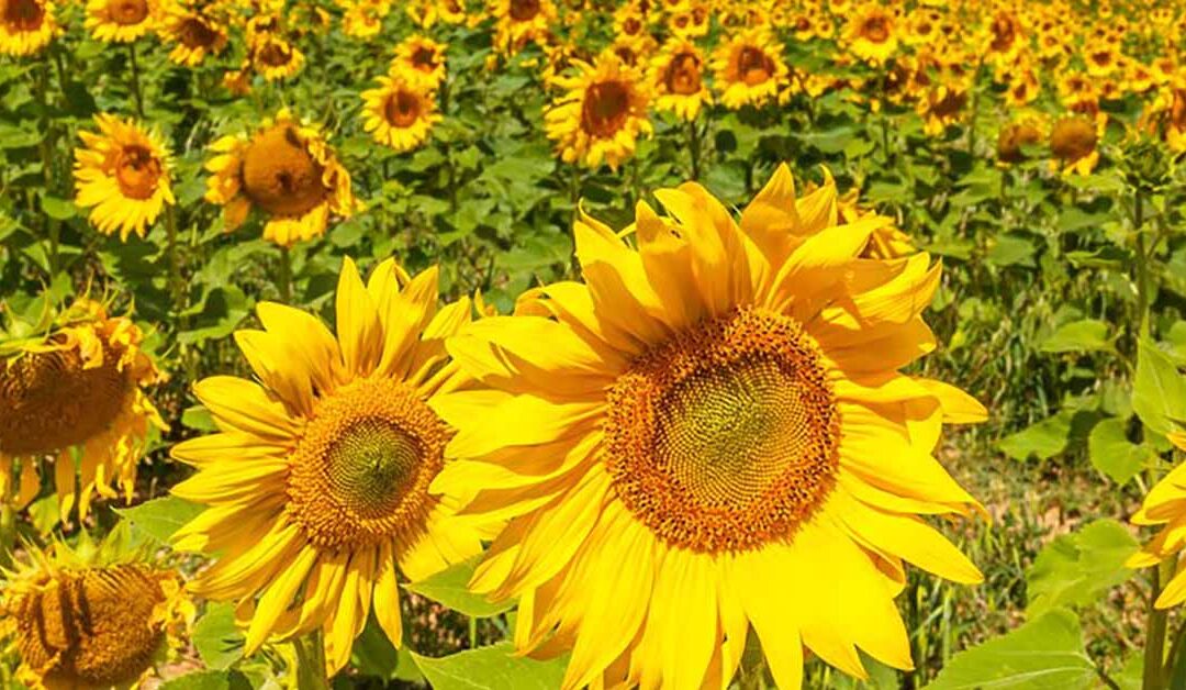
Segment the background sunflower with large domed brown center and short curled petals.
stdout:
[[250,135],[228,135],[210,145],[206,201],[223,207],[228,232],[251,208],[268,216],[263,238],[283,247],[325,234],[330,214],[350,216],[358,203],[350,173],[338,163],[321,132],[293,118],[287,108],[266,119]]

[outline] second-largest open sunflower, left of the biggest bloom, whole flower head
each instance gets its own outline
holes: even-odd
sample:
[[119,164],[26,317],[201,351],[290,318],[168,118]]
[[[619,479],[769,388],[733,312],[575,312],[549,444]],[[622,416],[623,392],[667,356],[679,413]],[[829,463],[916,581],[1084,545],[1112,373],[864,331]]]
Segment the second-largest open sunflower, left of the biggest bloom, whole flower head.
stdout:
[[173,494],[208,506],[174,545],[219,555],[192,588],[240,602],[247,653],[321,628],[332,675],[372,601],[398,646],[397,572],[421,580],[482,550],[486,532],[453,514],[467,494],[428,489],[452,436],[429,404],[466,382],[444,341],[471,317],[468,299],[438,310],[436,281],[389,260],[364,285],[346,259],[337,337],[262,303],[264,330],[236,334],[260,384],[195,386],[222,432],[173,449],[198,468]]

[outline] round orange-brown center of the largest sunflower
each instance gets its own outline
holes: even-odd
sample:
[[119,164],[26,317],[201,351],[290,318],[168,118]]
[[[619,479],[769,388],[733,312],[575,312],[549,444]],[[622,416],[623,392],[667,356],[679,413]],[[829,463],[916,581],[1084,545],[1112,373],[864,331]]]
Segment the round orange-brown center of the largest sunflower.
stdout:
[[672,546],[789,539],[835,482],[840,412],[795,321],[737,309],[636,360],[611,387],[618,496]]

